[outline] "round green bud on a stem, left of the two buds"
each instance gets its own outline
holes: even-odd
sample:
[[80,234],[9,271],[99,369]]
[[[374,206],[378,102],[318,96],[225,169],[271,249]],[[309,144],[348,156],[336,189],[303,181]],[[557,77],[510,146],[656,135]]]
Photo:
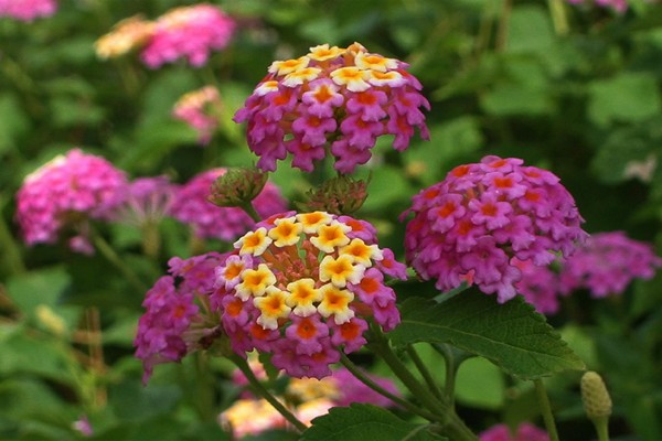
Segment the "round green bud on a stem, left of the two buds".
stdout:
[[265,187],[268,174],[256,168],[227,170],[212,184],[209,201],[221,207],[246,206]]

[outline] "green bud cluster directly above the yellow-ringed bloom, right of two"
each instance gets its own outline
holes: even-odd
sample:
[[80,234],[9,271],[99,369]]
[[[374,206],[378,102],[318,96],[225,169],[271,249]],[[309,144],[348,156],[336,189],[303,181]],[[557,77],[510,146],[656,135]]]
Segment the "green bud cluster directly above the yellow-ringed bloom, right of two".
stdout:
[[337,176],[307,194],[308,202],[298,206],[305,212],[327,212],[335,215],[356,212],[367,197],[367,182],[350,176]]

